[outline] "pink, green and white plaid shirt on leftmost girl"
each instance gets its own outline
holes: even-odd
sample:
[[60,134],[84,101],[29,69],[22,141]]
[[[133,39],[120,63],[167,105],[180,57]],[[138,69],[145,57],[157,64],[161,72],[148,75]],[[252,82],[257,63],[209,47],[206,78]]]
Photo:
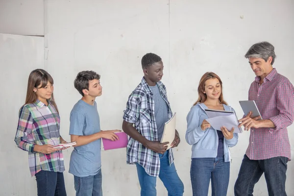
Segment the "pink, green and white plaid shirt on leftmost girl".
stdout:
[[50,154],[35,152],[35,145],[58,145],[60,118],[53,105],[46,106],[40,100],[24,105],[20,110],[15,136],[17,146],[28,151],[28,166],[34,176],[41,170],[63,172],[62,151]]

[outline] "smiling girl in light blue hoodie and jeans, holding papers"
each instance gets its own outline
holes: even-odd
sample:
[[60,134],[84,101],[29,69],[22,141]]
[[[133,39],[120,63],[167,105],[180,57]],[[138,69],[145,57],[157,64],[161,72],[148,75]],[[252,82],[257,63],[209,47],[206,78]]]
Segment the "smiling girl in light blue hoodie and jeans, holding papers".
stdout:
[[212,196],[226,196],[230,176],[230,151],[238,133],[226,127],[216,130],[205,120],[205,109],[234,111],[224,101],[221,78],[205,73],[198,85],[198,99],[187,116],[186,141],[192,146],[191,182],[193,196],[207,196],[211,180]]

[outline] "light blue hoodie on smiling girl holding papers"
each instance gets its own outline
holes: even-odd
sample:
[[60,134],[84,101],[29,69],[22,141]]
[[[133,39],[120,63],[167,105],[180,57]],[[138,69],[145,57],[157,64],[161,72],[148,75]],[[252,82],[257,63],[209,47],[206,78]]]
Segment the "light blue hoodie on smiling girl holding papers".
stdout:
[[[230,106],[223,104],[225,111],[234,111]],[[186,141],[192,146],[192,158],[215,158],[218,154],[219,137],[217,130],[208,128],[202,131],[203,120],[208,119],[205,113],[208,109],[204,103],[194,105],[187,116]],[[231,160],[229,147],[233,147],[238,142],[238,133],[230,140],[223,138],[224,162]]]

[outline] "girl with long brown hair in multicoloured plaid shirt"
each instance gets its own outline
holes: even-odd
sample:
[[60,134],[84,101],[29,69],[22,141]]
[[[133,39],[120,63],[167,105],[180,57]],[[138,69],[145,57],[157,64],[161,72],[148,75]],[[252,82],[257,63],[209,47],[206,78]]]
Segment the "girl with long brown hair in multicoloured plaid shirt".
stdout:
[[[60,117],[53,97],[53,78],[42,69],[28,77],[25,104],[19,113],[17,146],[28,151],[28,165],[36,176],[38,196],[66,196]],[[65,148],[63,148],[65,149]]]

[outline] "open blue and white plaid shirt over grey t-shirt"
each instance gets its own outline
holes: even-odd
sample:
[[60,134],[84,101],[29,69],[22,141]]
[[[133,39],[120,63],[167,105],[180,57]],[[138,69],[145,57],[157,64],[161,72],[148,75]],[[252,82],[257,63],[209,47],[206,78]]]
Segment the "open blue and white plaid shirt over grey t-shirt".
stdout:
[[[172,118],[172,110],[167,98],[165,85],[159,81],[156,83],[162,98],[168,104],[169,119]],[[157,127],[155,123],[154,101],[152,91],[143,77],[141,83],[129,96],[124,110],[123,120],[134,123],[138,132],[147,140],[158,141]],[[160,171],[160,160],[158,153],[144,147],[141,143],[129,137],[126,147],[127,164],[140,164],[147,174],[158,176]],[[172,148],[169,149],[170,164],[173,162]]]

